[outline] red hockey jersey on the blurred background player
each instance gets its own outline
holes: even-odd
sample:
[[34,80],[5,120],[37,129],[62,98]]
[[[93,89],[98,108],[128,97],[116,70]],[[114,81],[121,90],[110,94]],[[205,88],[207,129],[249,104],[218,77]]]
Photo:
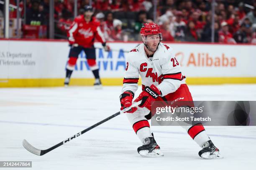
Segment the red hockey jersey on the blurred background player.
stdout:
[[100,30],[100,23],[92,18],[87,23],[84,20],[84,15],[79,15],[74,19],[69,31],[67,32],[70,44],[78,44],[83,47],[92,47],[95,37],[101,43],[105,43],[106,40],[103,37],[103,33]]

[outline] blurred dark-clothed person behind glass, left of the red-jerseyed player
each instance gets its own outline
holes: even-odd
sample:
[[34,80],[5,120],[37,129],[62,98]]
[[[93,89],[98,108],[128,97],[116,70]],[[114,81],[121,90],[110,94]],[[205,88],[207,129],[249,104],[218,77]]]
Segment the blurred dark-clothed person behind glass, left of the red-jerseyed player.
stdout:
[[26,24],[33,25],[36,21],[36,25],[45,25],[44,14],[39,11],[40,0],[31,0],[31,4],[31,8],[27,8],[26,11]]

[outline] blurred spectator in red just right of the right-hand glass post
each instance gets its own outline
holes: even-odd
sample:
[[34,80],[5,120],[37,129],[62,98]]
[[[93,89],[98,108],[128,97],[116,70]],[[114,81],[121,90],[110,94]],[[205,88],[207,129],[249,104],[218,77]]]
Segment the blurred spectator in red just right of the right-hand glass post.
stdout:
[[221,23],[221,30],[219,31],[219,42],[232,42],[236,43],[232,34],[228,31],[228,23],[225,21]]

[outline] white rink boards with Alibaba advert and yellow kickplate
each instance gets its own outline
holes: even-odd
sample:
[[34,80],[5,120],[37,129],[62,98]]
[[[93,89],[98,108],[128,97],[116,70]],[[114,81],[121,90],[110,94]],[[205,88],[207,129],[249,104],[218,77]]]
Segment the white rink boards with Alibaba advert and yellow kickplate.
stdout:
[[[109,43],[96,49],[103,85],[122,85],[126,51],[140,42]],[[176,53],[188,84],[256,83],[256,45],[166,43]],[[95,47],[101,47],[95,43]],[[0,40],[0,87],[62,86],[69,47],[66,41]],[[92,72],[81,52],[71,85],[92,85]]]

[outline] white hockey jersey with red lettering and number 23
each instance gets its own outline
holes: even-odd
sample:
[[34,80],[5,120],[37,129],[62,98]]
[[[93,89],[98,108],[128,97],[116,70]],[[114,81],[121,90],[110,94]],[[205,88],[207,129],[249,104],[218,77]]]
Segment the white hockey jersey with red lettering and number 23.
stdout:
[[175,92],[181,84],[186,83],[172,48],[161,42],[153,57],[147,57],[144,44],[128,53],[122,92],[131,90],[135,94],[139,75],[142,88],[154,84],[162,96]]

